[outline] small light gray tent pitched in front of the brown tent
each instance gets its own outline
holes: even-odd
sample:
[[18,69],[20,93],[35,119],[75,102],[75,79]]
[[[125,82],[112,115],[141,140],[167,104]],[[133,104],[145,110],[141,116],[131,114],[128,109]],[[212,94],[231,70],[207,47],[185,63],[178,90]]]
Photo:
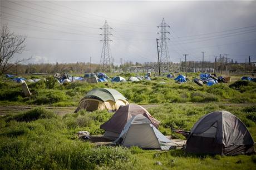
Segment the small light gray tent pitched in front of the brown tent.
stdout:
[[142,114],[138,114],[126,123],[119,138],[113,143],[125,147],[137,146],[143,149],[169,150],[178,147],[178,144],[166,138],[164,134]]

